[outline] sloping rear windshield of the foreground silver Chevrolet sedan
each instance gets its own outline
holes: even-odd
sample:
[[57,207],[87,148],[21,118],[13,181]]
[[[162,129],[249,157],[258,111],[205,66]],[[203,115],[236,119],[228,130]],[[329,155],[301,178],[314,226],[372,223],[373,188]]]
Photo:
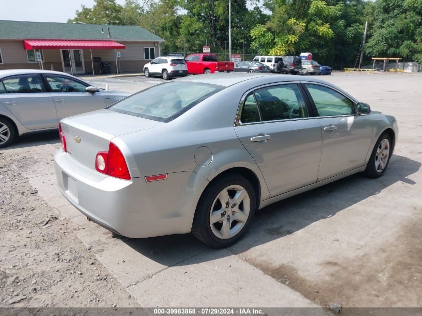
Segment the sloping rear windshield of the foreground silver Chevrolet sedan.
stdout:
[[167,82],[133,94],[108,109],[169,122],[222,89],[221,85],[202,82]]

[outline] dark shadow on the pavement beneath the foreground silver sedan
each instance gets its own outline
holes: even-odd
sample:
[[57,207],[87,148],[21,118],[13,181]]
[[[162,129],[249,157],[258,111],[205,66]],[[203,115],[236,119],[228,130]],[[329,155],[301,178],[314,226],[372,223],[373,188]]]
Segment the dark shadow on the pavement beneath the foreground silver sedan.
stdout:
[[[421,163],[407,157],[393,155],[389,169],[378,179],[369,179],[356,174],[320,188],[296,195],[259,210],[243,238],[229,248],[230,253],[239,254],[253,247],[283,238],[319,220],[335,216],[385,188],[403,181],[415,185],[408,176],[416,173]],[[191,234],[170,235],[145,239],[121,238],[135,251],[162,265],[174,266],[174,257],[181,249],[190,249],[190,256],[176,265],[191,265],[229,255],[227,251],[213,251],[206,256],[197,254],[210,249]]]

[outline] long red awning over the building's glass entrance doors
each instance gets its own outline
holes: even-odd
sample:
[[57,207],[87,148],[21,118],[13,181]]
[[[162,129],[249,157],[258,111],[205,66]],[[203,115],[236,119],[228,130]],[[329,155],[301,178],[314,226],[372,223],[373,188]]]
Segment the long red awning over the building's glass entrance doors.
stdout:
[[112,40],[53,40],[25,39],[25,50],[29,49],[125,49],[126,46]]

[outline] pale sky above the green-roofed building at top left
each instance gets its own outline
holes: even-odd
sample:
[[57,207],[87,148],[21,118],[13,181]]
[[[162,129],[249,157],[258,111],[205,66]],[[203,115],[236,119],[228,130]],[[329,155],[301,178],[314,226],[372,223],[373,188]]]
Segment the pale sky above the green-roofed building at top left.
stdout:
[[0,20],[66,22],[82,4],[92,7],[94,0],[0,0]]

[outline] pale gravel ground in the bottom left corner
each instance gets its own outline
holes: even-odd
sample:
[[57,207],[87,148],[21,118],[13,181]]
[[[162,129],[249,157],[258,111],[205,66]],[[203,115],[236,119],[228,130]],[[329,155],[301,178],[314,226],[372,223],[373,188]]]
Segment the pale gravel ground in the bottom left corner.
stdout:
[[0,152],[0,307],[137,307],[21,170],[27,151]]

